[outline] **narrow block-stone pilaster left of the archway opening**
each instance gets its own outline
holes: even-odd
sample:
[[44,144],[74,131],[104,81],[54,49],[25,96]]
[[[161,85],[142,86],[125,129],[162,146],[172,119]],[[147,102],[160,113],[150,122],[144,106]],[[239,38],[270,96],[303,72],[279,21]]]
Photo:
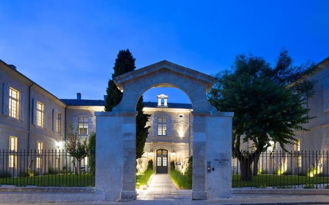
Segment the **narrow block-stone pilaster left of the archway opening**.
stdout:
[[136,200],[136,111],[122,116],[123,167],[121,199]]

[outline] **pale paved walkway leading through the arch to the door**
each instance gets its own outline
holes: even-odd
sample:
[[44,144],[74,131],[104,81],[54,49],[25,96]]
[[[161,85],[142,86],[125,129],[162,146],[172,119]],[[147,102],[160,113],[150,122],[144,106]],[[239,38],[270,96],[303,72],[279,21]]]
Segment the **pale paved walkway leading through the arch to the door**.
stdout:
[[137,190],[137,200],[191,200],[191,190],[177,190],[168,174],[155,174],[147,190]]

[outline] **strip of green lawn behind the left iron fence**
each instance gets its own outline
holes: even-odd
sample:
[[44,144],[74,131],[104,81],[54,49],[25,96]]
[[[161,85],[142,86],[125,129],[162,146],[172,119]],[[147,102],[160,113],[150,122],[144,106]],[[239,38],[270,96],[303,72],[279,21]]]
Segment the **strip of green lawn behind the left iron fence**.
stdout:
[[42,176],[0,178],[0,185],[95,187],[95,176],[91,174],[53,174]]

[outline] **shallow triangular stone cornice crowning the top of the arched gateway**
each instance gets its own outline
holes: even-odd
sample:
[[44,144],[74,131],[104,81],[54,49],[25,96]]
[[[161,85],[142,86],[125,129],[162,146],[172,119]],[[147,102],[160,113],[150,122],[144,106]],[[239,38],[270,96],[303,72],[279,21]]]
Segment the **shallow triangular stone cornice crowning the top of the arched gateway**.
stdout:
[[161,71],[166,71],[166,70],[177,73],[178,75],[187,76],[187,77],[191,78],[191,80],[201,81],[207,85],[208,89],[212,87],[212,85],[215,83],[215,80],[216,80],[214,77],[212,77],[210,75],[171,63],[168,60],[162,60],[162,61],[159,61],[158,63],[119,75],[119,76],[115,77],[113,80],[114,80],[115,84],[118,86],[118,88],[121,90],[122,85],[127,81],[138,79],[140,77],[150,75],[151,73],[154,73],[154,72],[161,72]]

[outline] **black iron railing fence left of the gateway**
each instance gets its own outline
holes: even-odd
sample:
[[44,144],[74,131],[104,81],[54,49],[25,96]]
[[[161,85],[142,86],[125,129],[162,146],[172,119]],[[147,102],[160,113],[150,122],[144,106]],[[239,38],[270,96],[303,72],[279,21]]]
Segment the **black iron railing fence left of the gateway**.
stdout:
[[78,160],[64,150],[0,150],[1,186],[94,187],[88,157]]

